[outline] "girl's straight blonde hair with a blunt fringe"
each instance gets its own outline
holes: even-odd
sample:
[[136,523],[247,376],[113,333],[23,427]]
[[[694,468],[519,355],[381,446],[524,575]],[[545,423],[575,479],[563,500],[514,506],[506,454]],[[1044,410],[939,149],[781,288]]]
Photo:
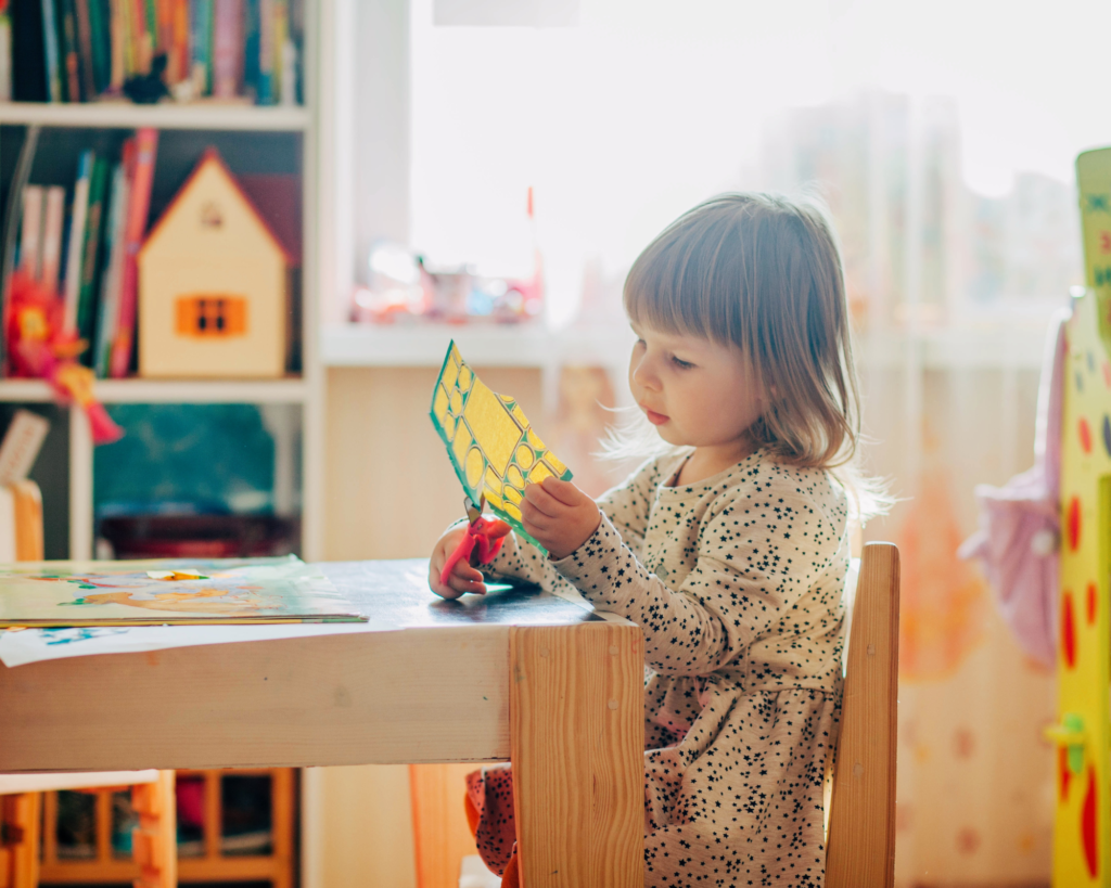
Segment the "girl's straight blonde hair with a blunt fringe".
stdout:
[[854,467],[860,386],[844,272],[815,200],[737,193],[699,204],[638,256],[624,307],[633,323],[739,347],[765,393],[757,443],[789,465],[840,470],[861,517],[882,511],[880,487]]

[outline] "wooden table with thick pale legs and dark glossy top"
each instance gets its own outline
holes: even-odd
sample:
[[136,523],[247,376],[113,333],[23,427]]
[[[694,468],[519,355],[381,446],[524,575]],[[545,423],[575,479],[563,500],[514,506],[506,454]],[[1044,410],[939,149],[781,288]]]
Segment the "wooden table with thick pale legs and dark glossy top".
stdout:
[[441,601],[424,561],[322,567],[397,629],[0,665],[0,773],[511,759],[528,888],[643,884],[637,626]]

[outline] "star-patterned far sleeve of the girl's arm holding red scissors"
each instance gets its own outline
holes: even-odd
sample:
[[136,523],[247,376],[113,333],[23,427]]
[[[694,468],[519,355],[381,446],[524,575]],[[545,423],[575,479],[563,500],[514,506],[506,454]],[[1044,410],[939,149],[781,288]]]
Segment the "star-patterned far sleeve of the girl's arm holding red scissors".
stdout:
[[[609,519],[621,528],[622,538],[630,551],[640,552],[648,529],[652,496],[659,485],[659,461],[650,460],[640,466],[623,483],[607,491],[598,498],[603,522]],[[569,585],[568,581],[552,566],[554,563],[540,549],[510,533],[497,557],[482,572],[493,579],[514,578],[536,583],[549,592],[559,592]]]

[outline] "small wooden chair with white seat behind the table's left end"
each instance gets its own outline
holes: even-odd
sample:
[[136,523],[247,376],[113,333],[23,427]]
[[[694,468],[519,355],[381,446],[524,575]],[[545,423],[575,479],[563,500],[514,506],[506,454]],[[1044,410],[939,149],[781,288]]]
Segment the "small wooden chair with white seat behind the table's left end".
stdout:
[[[14,551],[17,561],[42,561],[39,485],[24,480],[8,492],[14,524],[14,545],[6,541],[8,551]],[[0,775],[0,888],[36,888],[39,882],[42,793],[127,786],[131,787],[131,804],[139,815],[133,845],[140,867],[136,888],[174,888],[178,837],[172,770]],[[106,846],[107,828],[100,831],[98,844]]]

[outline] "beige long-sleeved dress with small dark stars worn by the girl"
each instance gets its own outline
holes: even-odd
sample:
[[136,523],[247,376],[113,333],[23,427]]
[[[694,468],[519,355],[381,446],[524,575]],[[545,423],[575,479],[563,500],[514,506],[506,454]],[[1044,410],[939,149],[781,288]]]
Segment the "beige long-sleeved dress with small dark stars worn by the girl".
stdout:
[[[683,456],[599,500],[560,561],[516,538],[492,573],[571,587],[644,634],[645,885],[820,886],[840,694],[843,488],[758,451],[685,487]],[[479,850],[514,850],[508,766],[472,775]]]

